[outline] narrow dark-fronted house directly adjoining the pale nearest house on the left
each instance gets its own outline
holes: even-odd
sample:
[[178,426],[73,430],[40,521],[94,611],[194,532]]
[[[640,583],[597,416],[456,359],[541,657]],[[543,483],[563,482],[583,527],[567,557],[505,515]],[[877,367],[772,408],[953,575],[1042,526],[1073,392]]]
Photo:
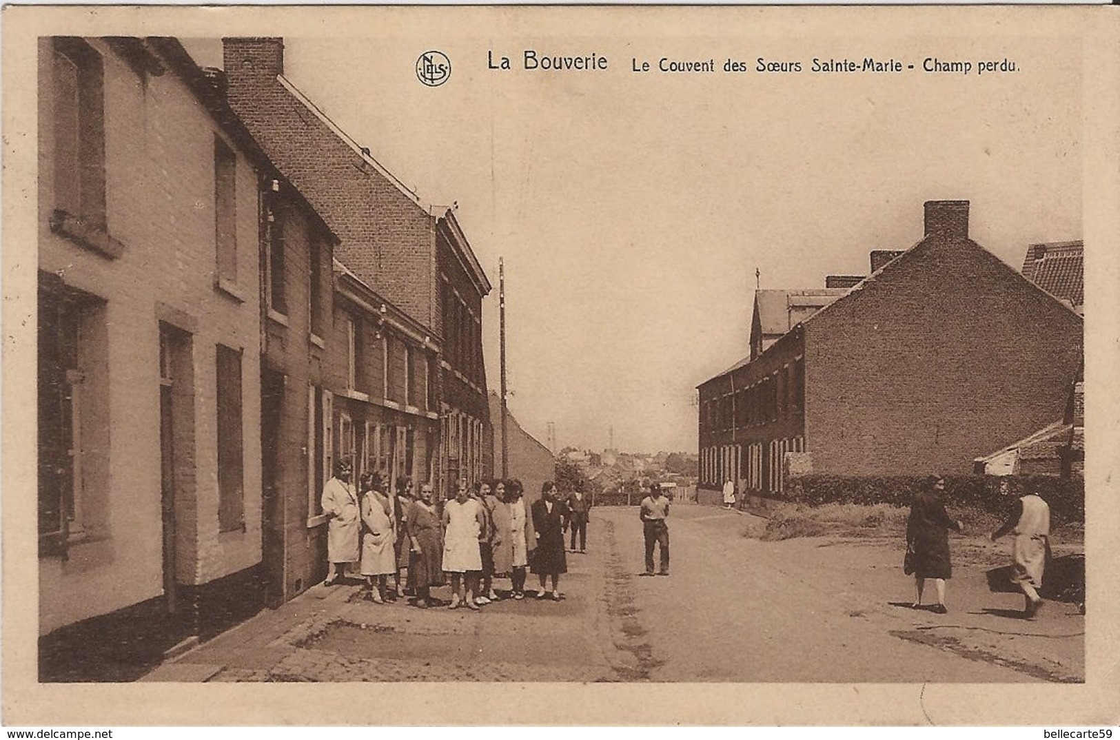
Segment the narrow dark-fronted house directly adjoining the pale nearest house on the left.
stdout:
[[342,388],[329,372],[337,237],[280,175],[261,194],[261,476],[264,603],[279,606],[325,577],[326,533],[308,526],[330,477],[330,424]]

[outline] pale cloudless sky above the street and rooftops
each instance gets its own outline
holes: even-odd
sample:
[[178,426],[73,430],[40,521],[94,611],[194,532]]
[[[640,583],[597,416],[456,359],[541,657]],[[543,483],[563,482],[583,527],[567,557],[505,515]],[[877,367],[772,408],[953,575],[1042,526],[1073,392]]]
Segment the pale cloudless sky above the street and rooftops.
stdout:
[[[1070,39],[720,16],[560,35],[494,12],[482,29],[392,13],[343,34],[312,25],[286,37],[284,73],[424,202],[458,204],[495,285],[493,388],[504,257],[510,408],[541,441],[553,422],[557,449],[603,449],[613,433],[622,450],[696,451],[694,388],[748,353],[755,271],[764,289],[867,274],[871,250],[921,238],[925,200],[970,200],[972,238],[1016,269],[1030,243],[1082,237]],[[221,65],[218,43],[186,45]],[[439,87],[414,72],[430,48],[451,60]],[[608,71],[525,72],[529,48],[595,53]],[[514,69],[488,69],[487,51]],[[758,57],[808,71],[813,57],[871,55],[916,69],[754,72]],[[662,57],[750,72],[631,72],[632,58],[656,68]],[[923,73],[927,57],[1007,58],[1017,72]]]

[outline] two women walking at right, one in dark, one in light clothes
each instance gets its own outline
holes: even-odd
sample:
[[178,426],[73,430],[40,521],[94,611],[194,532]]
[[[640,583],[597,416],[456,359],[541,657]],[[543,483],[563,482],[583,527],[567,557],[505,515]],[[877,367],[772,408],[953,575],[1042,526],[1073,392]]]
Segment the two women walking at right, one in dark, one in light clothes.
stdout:
[[[1009,495],[1006,485],[1000,490],[1005,496]],[[937,602],[931,610],[940,615],[949,611],[945,606],[945,581],[953,575],[949,531],[962,532],[964,528],[960,519],[952,518],[945,512],[942,502],[944,491],[945,479],[930,476],[923,489],[914,496],[906,522],[906,556],[903,565],[907,575],[914,574],[915,599],[912,607],[925,608],[922,603],[925,581],[933,580]],[[1042,588],[1049,549],[1049,506],[1038,494],[1020,497],[1004,525],[991,533],[991,540],[995,542],[1009,533],[1015,535],[1011,582],[1026,599],[1024,616],[1029,619],[1043,605],[1038,589]]]

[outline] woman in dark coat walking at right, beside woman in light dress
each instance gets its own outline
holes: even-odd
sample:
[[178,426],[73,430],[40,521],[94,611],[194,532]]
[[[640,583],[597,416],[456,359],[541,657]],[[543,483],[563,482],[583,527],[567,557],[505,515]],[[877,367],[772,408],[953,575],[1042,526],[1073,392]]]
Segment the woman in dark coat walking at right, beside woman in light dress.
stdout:
[[949,560],[949,531],[961,531],[962,524],[951,519],[941,502],[945,490],[945,479],[941,476],[930,476],[925,486],[911,503],[909,518],[906,521],[907,561],[914,572],[914,587],[917,598],[913,608],[922,608],[922,590],[925,579],[934,579],[937,589],[937,603],[933,611],[946,613],[945,581],[953,577],[953,565]]

